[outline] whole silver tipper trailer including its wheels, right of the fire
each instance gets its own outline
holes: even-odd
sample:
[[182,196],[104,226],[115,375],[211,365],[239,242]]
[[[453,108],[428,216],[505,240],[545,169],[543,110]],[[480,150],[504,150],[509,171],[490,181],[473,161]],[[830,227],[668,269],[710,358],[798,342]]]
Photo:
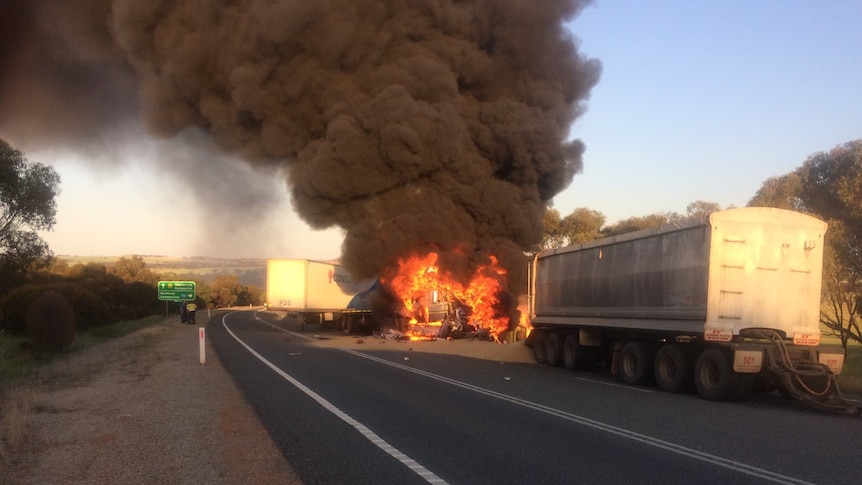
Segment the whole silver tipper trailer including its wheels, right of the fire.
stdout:
[[760,381],[855,412],[835,384],[843,349],[820,345],[825,232],[751,207],[540,252],[527,344],[551,365],[606,360],[630,384],[726,400]]

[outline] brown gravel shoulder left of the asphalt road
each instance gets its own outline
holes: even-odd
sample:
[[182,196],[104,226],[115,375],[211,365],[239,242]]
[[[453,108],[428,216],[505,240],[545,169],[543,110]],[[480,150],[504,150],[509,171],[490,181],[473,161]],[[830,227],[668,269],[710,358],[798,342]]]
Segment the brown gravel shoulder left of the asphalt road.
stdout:
[[198,327],[167,318],[58,359],[16,392],[33,414],[4,484],[301,483]]

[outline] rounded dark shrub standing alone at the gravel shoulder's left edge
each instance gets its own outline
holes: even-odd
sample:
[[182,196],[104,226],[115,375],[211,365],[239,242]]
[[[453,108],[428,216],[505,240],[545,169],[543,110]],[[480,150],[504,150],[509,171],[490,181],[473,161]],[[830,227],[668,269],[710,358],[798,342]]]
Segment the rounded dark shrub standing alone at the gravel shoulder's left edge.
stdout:
[[60,293],[49,290],[27,309],[27,336],[37,350],[59,352],[75,340],[75,312]]

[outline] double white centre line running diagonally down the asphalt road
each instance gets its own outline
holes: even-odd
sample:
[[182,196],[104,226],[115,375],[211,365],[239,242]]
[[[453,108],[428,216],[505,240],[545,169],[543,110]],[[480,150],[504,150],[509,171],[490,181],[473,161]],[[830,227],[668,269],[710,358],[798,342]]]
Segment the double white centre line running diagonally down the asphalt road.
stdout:
[[365,354],[356,350],[339,348],[343,352],[347,352],[349,354],[355,355],[357,357],[362,357],[364,359],[373,360],[375,362],[379,362],[384,365],[396,367],[398,369],[405,370],[407,372],[412,372],[414,374],[419,374],[421,376],[428,377],[430,379],[434,379],[440,382],[445,382],[447,384],[451,384],[453,386],[457,386],[463,389],[467,389],[473,392],[477,392],[479,394],[484,394],[486,396],[490,396],[496,399],[500,399],[502,401],[507,401],[512,404],[517,404],[519,406],[524,406],[545,414],[550,414],[552,416],[556,416],[561,419],[565,419],[567,421],[572,421],[574,423],[578,423],[583,426],[588,426],[593,429],[597,429],[600,431],[604,431],[607,433],[611,433],[617,436],[621,436],[623,438],[628,438],[630,440],[638,441],[640,443],[654,446],[656,448],[661,448],[663,450],[670,451],[672,453],[676,453],[679,455],[687,456],[689,458],[694,458],[695,460],[704,461],[710,463],[712,465],[717,465],[720,467],[728,468],[730,470],[744,473],[746,475],[751,475],[756,478],[761,478],[764,480],[768,480],[775,483],[784,483],[784,484],[795,484],[795,485],[810,485],[811,482],[806,482],[804,480],[800,480],[793,477],[788,477],[786,475],[781,475],[779,473],[771,472],[769,470],[764,470],[762,468],[753,467],[751,465],[746,465],[745,463],[740,463],[738,461],[729,460],[727,458],[722,458],[720,456],[711,455],[709,453],[704,453],[702,451],[694,450],[691,448],[686,448],[685,446],[678,445],[675,443],[671,443],[669,441],[660,440],[658,438],[653,438],[651,436],[647,436],[644,434],[637,433],[635,431],[627,430],[624,428],[620,428],[617,426],[613,426],[610,424],[602,423],[600,421],[596,421],[594,419],[586,418],[583,416],[578,416],[576,414],[571,414],[565,411],[561,411],[559,409],[555,409],[549,406],[545,406],[543,404],[534,403],[531,401],[527,401],[524,399],[520,399],[517,397],[509,396],[506,394],[502,394],[496,391],[492,391],[490,389],[485,389],[482,387],[474,386],[473,384],[468,384],[466,382],[456,381],[455,379],[450,379],[448,377],[444,377],[437,374],[432,374],[430,372],[426,372],[420,369],[416,369],[413,367],[408,367],[403,364],[399,364],[397,362],[390,362],[386,359],[381,359],[379,357],[374,357],[369,354]]

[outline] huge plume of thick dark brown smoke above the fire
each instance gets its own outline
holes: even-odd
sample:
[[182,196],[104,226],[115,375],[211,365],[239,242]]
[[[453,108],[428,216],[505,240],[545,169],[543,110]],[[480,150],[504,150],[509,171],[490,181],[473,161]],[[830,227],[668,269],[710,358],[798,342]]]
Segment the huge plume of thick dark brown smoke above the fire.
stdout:
[[563,22],[584,3],[6,0],[0,130],[80,142],[139,113],[158,135],[202,130],[285,170],[359,275],[436,249],[520,282],[581,169],[566,138],[600,66]]

